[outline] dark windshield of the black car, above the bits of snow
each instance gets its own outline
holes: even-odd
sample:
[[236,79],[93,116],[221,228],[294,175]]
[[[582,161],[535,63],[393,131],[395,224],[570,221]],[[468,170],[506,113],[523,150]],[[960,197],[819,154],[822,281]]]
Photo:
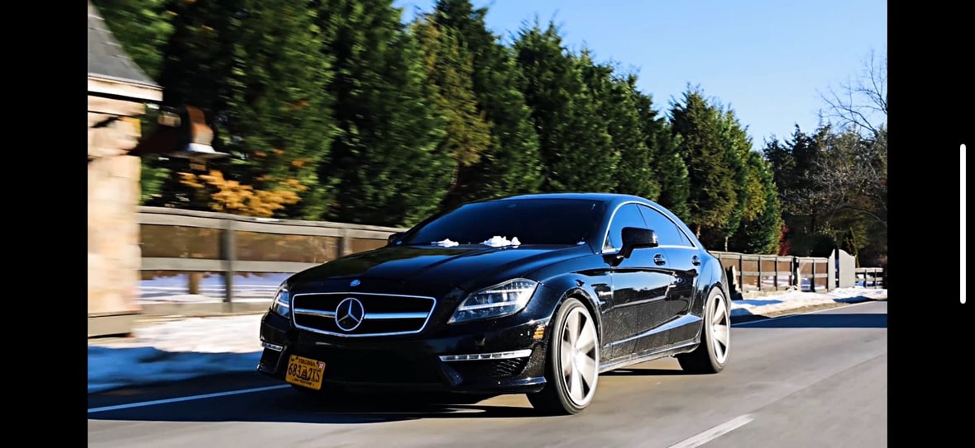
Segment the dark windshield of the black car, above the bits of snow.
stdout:
[[526,199],[461,205],[411,230],[404,243],[478,244],[503,237],[522,244],[577,244],[598,231],[598,201]]

